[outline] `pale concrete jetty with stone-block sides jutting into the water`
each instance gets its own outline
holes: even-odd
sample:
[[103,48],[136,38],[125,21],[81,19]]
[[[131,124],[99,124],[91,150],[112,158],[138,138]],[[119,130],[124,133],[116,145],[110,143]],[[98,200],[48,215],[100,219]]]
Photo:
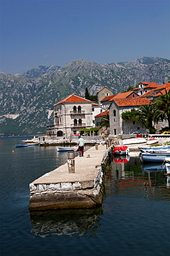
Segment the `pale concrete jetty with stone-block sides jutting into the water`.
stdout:
[[[97,148],[97,149],[96,149]],[[75,158],[75,172],[68,164],[30,183],[30,210],[94,208],[103,202],[103,170],[108,159],[106,145],[92,147]]]

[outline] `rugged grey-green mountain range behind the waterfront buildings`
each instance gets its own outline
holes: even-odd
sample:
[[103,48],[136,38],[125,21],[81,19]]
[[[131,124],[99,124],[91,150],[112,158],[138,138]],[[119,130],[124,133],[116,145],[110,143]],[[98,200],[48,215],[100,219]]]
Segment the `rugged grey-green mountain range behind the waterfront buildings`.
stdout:
[[45,133],[53,124],[53,105],[70,94],[85,97],[107,86],[114,94],[142,82],[162,85],[170,80],[170,61],[141,57],[130,62],[96,64],[73,60],[65,66],[36,66],[20,74],[0,72],[0,133],[32,135]]

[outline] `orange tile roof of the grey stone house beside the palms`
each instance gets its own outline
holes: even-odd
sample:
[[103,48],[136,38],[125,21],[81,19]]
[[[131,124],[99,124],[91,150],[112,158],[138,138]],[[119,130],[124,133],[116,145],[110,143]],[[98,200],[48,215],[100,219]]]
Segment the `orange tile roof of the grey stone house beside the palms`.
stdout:
[[137,107],[142,104],[153,104],[151,100],[147,98],[133,98],[133,99],[113,99],[118,107]]

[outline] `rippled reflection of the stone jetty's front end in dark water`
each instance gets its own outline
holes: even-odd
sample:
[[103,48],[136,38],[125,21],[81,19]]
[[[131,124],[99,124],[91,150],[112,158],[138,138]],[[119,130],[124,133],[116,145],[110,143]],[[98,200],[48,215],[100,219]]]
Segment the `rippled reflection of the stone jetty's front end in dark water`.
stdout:
[[52,235],[78,235],[80,238],[87,233],[92,237],[100,226],[100,214],[103,214],[102,208],[32,211],[31,232],[43,238]]

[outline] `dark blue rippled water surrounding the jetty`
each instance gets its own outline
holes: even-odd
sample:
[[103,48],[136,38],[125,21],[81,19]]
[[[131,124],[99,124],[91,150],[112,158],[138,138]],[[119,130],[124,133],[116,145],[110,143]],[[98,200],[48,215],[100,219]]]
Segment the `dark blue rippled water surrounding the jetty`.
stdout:
[[67,154],[1,141],[1,255],[169,255],[164,172],[143,172],[138,158],[113,161],[102,207],[29,212],[29,183],[65,163]]

